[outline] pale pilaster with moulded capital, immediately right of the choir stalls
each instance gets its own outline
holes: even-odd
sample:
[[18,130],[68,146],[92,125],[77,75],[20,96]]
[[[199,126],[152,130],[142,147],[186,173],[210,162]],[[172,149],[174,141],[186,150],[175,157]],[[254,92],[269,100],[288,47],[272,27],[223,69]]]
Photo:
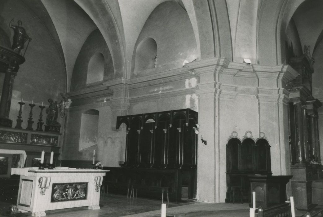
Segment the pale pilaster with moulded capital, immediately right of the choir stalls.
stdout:
[[[187,67],[199,76],[196,95],[199,97],[200,134],[198,135],[198,162],[197,162],[197,197],[199,201],[218,202],[218,177],[216,174],[216,113],[218,110],[216,95],[218,92],[215,81],[215,70],[218,67],[218,58],[210,58],[187,64]],[[207,140],[207,145],[201,138]]]

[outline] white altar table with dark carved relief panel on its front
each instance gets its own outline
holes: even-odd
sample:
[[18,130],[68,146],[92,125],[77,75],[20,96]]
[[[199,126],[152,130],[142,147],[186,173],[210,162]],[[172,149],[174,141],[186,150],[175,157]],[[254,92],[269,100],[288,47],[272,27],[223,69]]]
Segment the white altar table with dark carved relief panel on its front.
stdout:
[[45,216],[45,211],[89,206],[100,209],[100,186],[109,170],[12,168],[20,175],[17,208]]

